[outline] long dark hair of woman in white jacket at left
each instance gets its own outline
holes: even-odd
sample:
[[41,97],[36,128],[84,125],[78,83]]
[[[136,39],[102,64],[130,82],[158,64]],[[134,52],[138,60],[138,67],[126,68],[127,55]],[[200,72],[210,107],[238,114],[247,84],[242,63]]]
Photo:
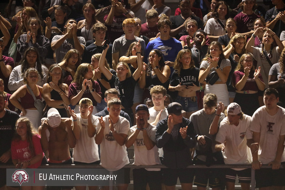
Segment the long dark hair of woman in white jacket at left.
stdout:
[[42,70],[42,63],[40,61],[40,55],[39,52],[36,48],[30,46],[28,47],[28,49],[26,50],[26,52],[24,53],[24,56],[22,57],[21,61],[20,61],[20,65],[21,65],[21,72],[22,72],[22,76],[24,78],[25,72],[28,70],[29,66],[28,66],[28,61],[27,61],[27,54],[29,52],[35,52],[37,54],[37,60],[36,60],[36,70],[39,72],[39,75],[41,76],[42,79],[44,79],[44,75],[43,75],[43,70]]

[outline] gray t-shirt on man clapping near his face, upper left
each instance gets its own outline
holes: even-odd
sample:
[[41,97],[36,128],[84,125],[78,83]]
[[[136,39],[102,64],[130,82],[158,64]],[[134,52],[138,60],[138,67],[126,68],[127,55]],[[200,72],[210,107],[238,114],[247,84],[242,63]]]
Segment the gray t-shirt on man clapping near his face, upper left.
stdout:
[[[53,41],[57,41],[58,39],[60,39],[63,35],[55,35],[53,37]],[[79,40],[79,43],[82,44],[82,45],[86,45],[86,42],[85,42],[85,38],[82,37],[82,36],[79,36],[78,37],[78,40]],[[64,40],[64,42],[61,44],[61,46],[59,48],[57,48],[55,50],[55,53],[56,53],[56,59],[57,59],[57,63],[60,63],[61,60],[63,59],[63,57],[65,56],[65,54],[71,50],[71,49],[74,49],[75,46],[74,46],[74,40],[73,38],[69,39],[69,38],[66,38],[66,40]]]

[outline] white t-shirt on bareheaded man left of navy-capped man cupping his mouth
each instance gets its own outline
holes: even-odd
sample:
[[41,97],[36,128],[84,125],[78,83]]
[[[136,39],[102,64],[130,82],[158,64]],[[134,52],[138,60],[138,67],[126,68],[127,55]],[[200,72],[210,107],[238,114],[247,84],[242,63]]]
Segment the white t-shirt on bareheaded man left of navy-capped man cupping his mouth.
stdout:
[[[101,165],[109,171],[116,171],[130,162],[126,146],[120,146],[111,133],[109,128],[109,117],[109,115],[103,117],[103,120],[105,121],[105,130],[104,138],[100,144]],[[97,125],[96,131],[99,131],[100,127],[100,125]],[[114,124],[114,129],[118,134],[128,135],[130,123],[126,118],[119,116],[117,123]]]

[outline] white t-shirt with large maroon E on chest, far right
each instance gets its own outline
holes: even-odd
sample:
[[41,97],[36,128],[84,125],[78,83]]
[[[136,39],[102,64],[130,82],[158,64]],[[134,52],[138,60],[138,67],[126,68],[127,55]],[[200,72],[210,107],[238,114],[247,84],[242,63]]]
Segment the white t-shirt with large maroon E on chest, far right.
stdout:
[[[275,115],[269,115],[262,106],[252,117],[250,130],[260,133],[258,160],[268,164],[275,160],[279,137],[285,135],[285,109],[279,107]],[[281,158],[285,162],[285,154]]]

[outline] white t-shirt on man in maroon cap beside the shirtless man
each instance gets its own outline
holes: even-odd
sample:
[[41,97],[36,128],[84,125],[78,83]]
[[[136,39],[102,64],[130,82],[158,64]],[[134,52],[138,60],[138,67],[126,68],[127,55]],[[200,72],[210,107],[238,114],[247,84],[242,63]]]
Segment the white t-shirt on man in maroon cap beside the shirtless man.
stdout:
[[[77,123],[80,129],[80,139],[76,140],[76,146],[73,149],[73,158],[76,162],[93,163],[99,161],[98,145],[95,143],[95,138],[88,136],[88,119],[81,118],[80,113],[76,114]],[[100,126],[99,117],[92,115],[91,121],[94,127]],[[72,119],[72,117],[71,117]],[[72,121],[72,126],[74,123]]]

